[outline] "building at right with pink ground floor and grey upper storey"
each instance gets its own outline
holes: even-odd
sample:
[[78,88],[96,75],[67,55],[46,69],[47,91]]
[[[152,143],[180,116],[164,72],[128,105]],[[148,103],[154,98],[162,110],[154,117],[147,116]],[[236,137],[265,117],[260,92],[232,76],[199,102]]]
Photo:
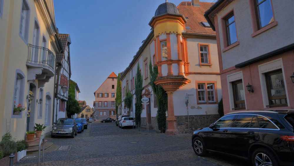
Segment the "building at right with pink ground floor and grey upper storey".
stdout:
[[294,109],[293,5],[219,0],[205,12],[217,34],[225,114]]

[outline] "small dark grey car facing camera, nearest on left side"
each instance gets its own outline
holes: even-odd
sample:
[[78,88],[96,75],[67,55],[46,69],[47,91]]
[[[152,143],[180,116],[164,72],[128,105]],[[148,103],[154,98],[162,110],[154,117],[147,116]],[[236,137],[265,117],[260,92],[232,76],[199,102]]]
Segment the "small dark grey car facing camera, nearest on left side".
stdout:
[[70,136],[74,138],[77,135],[78,127],[73,118],[60,118],[53,123],[51,137]]

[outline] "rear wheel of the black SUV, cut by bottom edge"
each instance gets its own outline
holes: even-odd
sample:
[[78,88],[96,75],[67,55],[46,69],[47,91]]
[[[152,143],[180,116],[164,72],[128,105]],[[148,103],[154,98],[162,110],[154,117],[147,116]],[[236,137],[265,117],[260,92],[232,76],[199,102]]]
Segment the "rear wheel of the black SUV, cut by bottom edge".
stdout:
[[252,154],[253,165],[278,165],[278,161],[274,157],[273,153],[268,149],[258,148]]

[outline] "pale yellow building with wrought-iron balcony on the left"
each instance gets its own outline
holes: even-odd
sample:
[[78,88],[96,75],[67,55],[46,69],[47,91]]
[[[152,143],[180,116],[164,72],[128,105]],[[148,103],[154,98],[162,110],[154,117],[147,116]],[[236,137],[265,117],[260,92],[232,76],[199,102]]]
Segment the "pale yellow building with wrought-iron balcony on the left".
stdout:
[[[55,57],[62,51],[53,0],[0,2],[0,134],[25,139],[35,123],[49,133]],[[21,112],[14,109],[19,104]]]

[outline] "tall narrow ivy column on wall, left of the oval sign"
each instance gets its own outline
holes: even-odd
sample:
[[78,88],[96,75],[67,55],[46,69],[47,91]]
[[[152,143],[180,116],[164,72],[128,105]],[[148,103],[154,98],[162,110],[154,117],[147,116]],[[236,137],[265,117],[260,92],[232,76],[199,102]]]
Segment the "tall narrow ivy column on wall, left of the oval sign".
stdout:
[[139,63],[138,63],[138,65],[137,65],[137,74],[136,74],[136,78],[135,78],[135,95],[136,95],[135,120],[136,120],[136,125],[138,125],[138,126],[139,126],[139,123],[141,124],[142,89],[143,89],[143,78],[142,78]]

